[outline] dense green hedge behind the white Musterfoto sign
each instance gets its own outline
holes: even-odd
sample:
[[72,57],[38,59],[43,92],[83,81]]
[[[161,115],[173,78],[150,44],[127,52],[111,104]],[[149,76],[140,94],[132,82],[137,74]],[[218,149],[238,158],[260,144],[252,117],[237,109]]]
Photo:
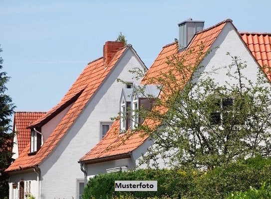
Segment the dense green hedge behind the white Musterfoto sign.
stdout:
[[[115,180],[157,180],[157,192],[114,192]],[[262,182],[271,183],[271,158],[251,158],[215,168],[199,170],[137,170],[101,174],[90,179],[83,199],[112,199],[134,197],[180,199],[224,199],[229,193],[259,189]],[[132,199],[131,198],[131,199]]]

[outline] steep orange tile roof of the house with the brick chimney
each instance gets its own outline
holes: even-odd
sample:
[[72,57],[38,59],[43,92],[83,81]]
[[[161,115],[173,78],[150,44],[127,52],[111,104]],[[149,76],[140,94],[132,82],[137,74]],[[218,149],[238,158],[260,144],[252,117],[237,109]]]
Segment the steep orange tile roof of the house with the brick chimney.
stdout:
[[104,64],[103,57],[88,63],[63,99],[40,119],[30,125],[42,125],[73,102],[71,108],[43,143],[36,155],[28,156],[27,154],[29,153],[29,150],[25,148],[22,154],[8,167],[6,171],[35,167],[50,154],[128,48],[129,46],[120,48],[108,65]]

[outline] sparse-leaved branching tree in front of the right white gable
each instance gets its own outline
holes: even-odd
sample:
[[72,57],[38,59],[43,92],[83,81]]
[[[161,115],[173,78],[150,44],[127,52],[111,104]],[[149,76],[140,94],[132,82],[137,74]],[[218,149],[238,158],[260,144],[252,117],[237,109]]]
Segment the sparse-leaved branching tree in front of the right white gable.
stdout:
[[208,53],[192,50],[168,57],[168,71],[148,80],[162,95],[151,111],[139,110],[145,122],[136,131],[155,140],[142,163],[158,166],[159,157],[172,167],[212,169],[256,154],[271,155],[271,87],[262,70],[252,81],[243,73],[246,62],[228,53],[232,64],[223,68],[232,81],[219,84],[212,75],[221,68],[202,72],[199,66]]

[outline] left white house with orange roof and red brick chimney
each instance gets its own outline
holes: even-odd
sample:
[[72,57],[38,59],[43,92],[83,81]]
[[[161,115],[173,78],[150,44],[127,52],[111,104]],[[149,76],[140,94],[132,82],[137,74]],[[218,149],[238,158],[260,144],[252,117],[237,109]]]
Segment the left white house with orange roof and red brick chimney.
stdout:
[[30,142],[6,169],[10,199],[27,193],[36,199],[80,198],[84,174],[77,161],[111,126],[122,88],[139,83],[128,72],[134,68],[146,70],[132,45],[105,42],[103,57],[89,62],[62,100],[27,127]]

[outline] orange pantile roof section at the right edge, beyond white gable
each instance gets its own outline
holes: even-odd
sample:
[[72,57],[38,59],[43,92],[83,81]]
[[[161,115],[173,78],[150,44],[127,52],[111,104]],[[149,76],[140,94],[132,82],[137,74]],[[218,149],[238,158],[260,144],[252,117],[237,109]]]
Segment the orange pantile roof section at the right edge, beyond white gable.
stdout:
[[271,33],[240,32],[240,35],[271,81]]

